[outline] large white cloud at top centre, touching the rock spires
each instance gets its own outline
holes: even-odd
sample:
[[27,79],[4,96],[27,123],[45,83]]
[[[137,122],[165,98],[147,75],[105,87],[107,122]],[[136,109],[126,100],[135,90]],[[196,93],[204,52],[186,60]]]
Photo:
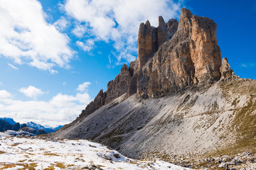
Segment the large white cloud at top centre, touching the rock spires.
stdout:
[[[88,32],[97,40],[114,41],[118,62],[122,59],[130,62],[137,55],[139,24],[149,19],[151,25],[158,26],[158,16],[163,16],[166,21],[176,18],[181,3],[166,0],[67,0],[64,8],[69,16],[82,23],[73,30],[74,33],[82,37],[82,33]],[[125,54],[120,54],[124,51]]]

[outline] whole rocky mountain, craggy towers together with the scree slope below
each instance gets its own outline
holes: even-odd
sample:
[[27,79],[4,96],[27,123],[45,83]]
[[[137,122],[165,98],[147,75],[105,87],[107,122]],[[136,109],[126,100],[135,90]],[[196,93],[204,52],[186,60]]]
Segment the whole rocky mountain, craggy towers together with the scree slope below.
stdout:
[[[255,146],[256,81],[221,60],[216,23],[181,9],[179,21],[141,23],[138,57],[52,137],[90,139],[129,157],[223,154]],[[196,156],[195,156],[196,157]]]

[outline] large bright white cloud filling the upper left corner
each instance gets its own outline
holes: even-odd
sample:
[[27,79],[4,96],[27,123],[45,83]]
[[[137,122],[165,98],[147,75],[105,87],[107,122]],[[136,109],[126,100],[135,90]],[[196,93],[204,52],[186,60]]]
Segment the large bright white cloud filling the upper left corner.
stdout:
[[45,16],[37,0],[1,0],[0,55],[48,71],[69,67],[74,55],[70,40],[46,23]]

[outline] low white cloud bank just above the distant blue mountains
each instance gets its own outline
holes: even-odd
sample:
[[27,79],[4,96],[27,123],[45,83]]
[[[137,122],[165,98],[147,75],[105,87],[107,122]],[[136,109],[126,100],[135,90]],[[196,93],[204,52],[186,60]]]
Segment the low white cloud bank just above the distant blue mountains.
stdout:
[[11,98],[8,91],[0,91],[0,113],[19,123],[33,121],[55,127],[75,120],[91,98],[87,92],[75,95],[57,94],[49,101],[21,101]]

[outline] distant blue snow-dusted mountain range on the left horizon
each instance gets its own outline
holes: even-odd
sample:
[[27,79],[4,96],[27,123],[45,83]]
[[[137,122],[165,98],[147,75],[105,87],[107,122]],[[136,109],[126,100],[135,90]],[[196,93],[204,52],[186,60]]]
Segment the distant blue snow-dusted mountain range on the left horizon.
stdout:
[[46,128],[43,125],[36,124],[33,122],[20,124],[20,123],[16,123],[16,121],[14,121],[13,118],[0,118],[0,132],[5,131],[5,130],[16,130],[17,131],[20,128],[26,128],[26,127],[27,127],[27,129],[32,128],[36,132],[38,132],[38,130],[40,130],[40,131],[44,130],[46,133],[49,133],[49,132],[55,132],[56,130],[62,128],[63,126],[60,125],[55,128],[52,128],[52,127]]

